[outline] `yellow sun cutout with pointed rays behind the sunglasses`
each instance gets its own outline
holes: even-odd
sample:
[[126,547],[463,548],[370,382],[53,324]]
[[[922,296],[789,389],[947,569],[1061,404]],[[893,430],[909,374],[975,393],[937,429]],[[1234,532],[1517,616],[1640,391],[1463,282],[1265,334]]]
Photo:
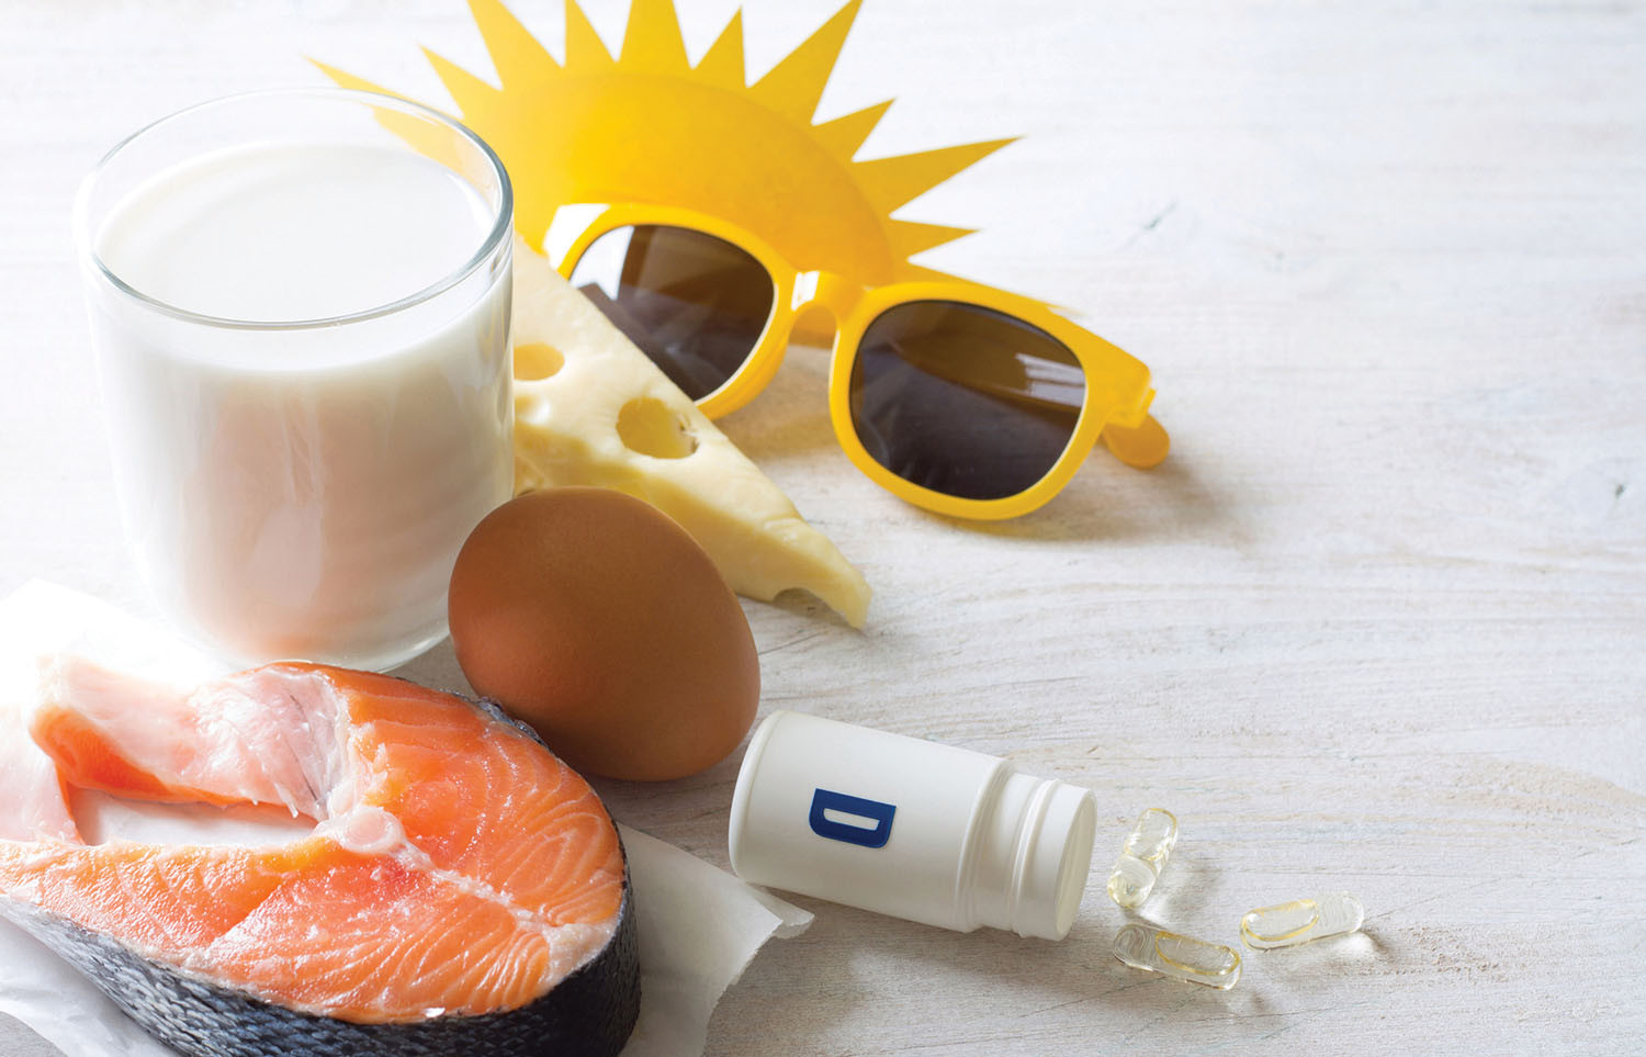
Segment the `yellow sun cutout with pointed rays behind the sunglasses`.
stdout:
[[[691,66],[673,0],[634,0],[617,56],[566,0],[561,61],[500,0],[469,0],[497,87],[425,56],[509,168],[515,227],[537,249],[563,204],[655,203],[724,217],[800,268],[864,285],[932,277],[909,258],[969,229],[892,212],[1011,140],[858,161],[890,100],[813,123],[859,7],[849,0],[752,84],[742,13]],[[316,66],[346,87],[385,91]]]

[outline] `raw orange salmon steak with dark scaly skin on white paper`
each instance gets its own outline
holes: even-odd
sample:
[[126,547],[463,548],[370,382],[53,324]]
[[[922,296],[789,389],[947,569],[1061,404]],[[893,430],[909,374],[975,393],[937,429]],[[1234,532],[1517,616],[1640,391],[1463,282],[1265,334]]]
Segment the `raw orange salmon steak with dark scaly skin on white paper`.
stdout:
[[[627,1041],[640,986],[622,841],[588,782],[495,708],[298,662],[178,691],[61,657],[28,733],[0,729],[0,914],[181,1054]],[[67,787],[272,803],[314,828],[87,845]]]

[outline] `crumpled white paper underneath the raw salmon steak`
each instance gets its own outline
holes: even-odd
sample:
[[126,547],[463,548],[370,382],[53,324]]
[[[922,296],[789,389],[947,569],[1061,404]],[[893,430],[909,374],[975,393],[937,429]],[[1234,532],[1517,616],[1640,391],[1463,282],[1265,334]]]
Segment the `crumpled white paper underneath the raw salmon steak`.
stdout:
[[[36,659],[64,649],[179,683],[224,670],[104,601],[36,580],[0,601],[0,710],[28,706]],[[216,808],[160,808],[99,794],[77,795],[74,808],[89,838],[204,835],[226,843],[245,840],[252,836],[245,828],[262,825],[226,818]],[[629,851],[640,940],[640,1021],[624,1057],[696,1057],[726,988],[769,938],[798,935],[811,914],[680,848],[627,827],[619,830]],[[0,1011],[69,1057],[174,1057],[92,981],[7,922],[0,922]]]

